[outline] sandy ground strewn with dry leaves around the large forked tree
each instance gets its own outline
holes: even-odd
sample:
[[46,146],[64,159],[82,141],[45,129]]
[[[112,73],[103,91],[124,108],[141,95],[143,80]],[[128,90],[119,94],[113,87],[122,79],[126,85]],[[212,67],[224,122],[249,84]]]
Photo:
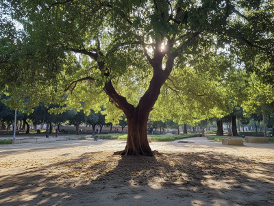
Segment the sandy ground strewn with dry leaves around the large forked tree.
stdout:
[[0,145],[0,205],[274,205],[274,143],[152,142],[120,157],[119,140]]

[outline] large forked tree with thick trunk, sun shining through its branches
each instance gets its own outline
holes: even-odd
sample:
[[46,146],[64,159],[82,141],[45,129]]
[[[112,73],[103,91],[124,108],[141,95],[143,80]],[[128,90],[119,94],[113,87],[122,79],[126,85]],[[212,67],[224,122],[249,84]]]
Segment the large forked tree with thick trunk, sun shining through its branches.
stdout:
[[[147,142],[149,113],[164,84],[166,91],[173,90],[175,95],[181,91],[175,82],[184,68],[220,75],[226,66],[212,66],[214,62],[218,64],[219,57],[214,53],[219,53],[219,47],[245,49],[255,55],[260,50],[270,52],[269,45],[273,45],[267,36],[273,32],[270,1],[2,3],[8,15],[23,25],[23,32],[20,38],[12,36],[14,41],[1,45],[1,74],[10,75],[1,75],[0,86],[10,93],[13,90],[13,95],[21,94],[23,89],[33,105],[40,101],[38,96],[43,96],[42,101],[64,104],[65,100],[57,96],[65,91],[67,107],[81,110],[80,101],[84,102],[85,111],[104,105],[120,117],[114,107],[122,110],[128,136],[121,155],[153,155]],[[75,57],[73,53],[81,55]],[[216,110],[215,103],[210,104],[211,88],[208,93],[196,86],[185,92],[208,96],[201,102],[206,103],[207,110]],[[184,105],[177,96],[177,103]],[[166,103],[164,95],[161,100]],[[206,116],[207,110],[197,116]]]

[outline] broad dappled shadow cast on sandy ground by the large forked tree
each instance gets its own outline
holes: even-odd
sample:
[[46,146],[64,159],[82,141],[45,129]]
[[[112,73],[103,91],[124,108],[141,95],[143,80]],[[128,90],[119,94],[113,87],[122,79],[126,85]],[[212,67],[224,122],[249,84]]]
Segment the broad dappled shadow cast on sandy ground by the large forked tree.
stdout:
[[1,172],[0,205],[274,205],[273,164],[214,152],[154,153],[10,166],[22,171]]

